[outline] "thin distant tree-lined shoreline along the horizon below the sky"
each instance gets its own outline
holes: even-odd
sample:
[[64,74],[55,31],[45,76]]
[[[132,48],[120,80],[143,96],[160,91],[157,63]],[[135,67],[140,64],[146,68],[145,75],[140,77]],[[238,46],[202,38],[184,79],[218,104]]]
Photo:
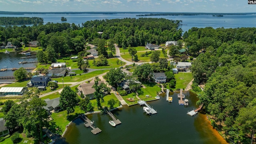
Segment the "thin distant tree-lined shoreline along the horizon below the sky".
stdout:
[[206,12],[7,12],[0,11],[0,14],[141,14],[137,16],[161,16],[161,15],[247,15],[256,12],[245,13],[206,13]]

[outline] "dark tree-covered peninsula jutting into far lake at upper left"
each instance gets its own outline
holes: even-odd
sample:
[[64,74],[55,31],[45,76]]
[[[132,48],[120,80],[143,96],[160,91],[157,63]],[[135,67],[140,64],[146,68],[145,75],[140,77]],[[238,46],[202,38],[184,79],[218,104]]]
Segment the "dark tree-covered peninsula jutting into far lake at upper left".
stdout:
[[38,17],[0,17],[0,25],[22,25],[38,23],[44,23],[44,19]]

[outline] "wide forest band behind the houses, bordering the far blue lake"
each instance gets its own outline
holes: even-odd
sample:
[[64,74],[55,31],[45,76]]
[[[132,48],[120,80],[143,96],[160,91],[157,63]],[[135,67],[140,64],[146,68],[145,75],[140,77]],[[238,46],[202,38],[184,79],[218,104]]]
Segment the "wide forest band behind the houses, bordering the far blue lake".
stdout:
[[182,30],[178,29],[178,23],[178,20],[164,18],[124,18],[88,21],[82,26],[74,23],[6,26],[0,27],[0,42],[28,44],[29,41],[37,40],[43,50],[51,46],[57,54],[64,56],[84,50],[86,41],[98,46],[98,52],[107,57],[105,46],[113,42],[124,48],[179,40]]

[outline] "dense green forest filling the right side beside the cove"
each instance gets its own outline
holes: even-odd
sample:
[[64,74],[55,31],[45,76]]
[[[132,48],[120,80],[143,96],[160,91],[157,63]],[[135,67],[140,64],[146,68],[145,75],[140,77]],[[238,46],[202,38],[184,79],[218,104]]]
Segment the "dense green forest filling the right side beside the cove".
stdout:
[[191,28],[184,33],[194,83],[205,84],[204,104],[212,125],[231,143],[248,144],[256,128],[256,28]]

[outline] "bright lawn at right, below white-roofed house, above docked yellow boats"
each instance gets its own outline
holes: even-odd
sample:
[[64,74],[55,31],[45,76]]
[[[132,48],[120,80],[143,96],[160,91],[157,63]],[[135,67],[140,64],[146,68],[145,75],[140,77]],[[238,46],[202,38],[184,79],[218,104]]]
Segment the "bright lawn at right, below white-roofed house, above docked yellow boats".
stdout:
[[188,83],[193,79],[192,72],[179,72],[178,74],[174,74],[176,79],[175,88],[171,88],[172,90],[177,90],[180,88],[185,89]]

